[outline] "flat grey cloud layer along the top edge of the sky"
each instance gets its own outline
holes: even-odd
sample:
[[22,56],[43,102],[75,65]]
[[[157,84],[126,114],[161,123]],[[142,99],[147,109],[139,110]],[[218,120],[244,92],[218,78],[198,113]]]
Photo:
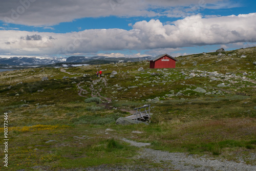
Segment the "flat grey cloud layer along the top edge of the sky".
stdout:
[[51,25],[84,17],[184,17],[205,8],[230,7],[234,7],[230,0],[8,0],[0,2],[0,20],[51,29]]

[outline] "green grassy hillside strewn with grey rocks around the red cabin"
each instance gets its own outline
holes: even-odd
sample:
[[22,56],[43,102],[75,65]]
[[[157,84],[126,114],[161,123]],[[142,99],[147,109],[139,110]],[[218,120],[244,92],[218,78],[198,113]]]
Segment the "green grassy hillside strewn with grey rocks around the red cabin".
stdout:
[[[140,149],[122,137],[150,142],[154,149],[256,165],[255,51],[180,56],[176,69],[149,69],[149,62],[141,61],[2,72],[8,168],[152,164],[135,160]],[[99,70],[101,78],[96,77]],[[115,124],[144,104],[152,106],[149,125]]]

